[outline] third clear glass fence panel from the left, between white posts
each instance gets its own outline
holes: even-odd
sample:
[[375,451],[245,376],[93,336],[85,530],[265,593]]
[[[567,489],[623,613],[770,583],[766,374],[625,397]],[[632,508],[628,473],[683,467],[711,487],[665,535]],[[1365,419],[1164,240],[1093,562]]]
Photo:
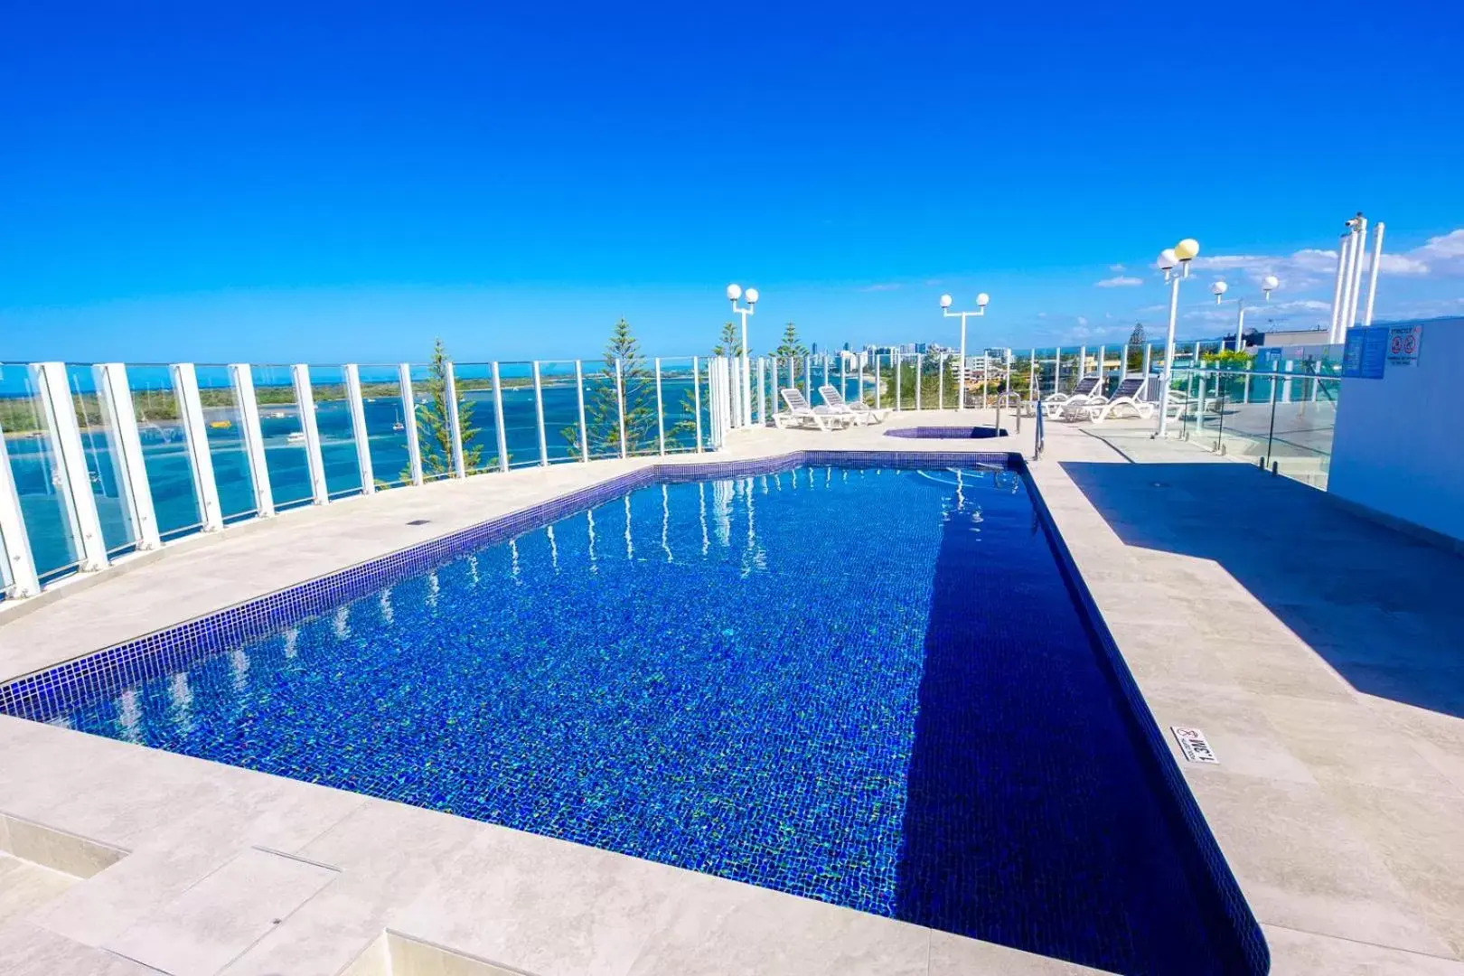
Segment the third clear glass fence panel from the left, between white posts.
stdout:
[[152,487],[152,509],[164,540],[203,524],[193,459],[183,433],[183,411],[173,388],[173,370],[160,363],[129,363],[127,385],[142,440],[142,465]]

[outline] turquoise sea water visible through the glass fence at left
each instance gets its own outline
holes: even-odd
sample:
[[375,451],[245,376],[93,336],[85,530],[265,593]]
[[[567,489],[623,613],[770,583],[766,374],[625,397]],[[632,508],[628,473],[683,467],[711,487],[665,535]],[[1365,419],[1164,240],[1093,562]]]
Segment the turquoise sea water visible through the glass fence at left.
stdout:
[[[662,402],[668,451],[695,448],[691,379],[685,375],[690,360],[666,364],[668,375],[662,383]],[[416,369],[422,370],[422,367]],[[546,370],[549,369],[546,366]],[[565,369],[571,370],[568,376],[564,375]],[[593,399],[597,383],[603,382],[593,375],[594,369],[599,369],[596,363],[586,363],[587,399]],[[675,369],[682,372],[678,375],[673,372]],[[148,391],[171,404],[173,386],[167,367],[129,366],[127,372],[135,392]],[[72,366],[67,367],[67,373],[73,392],[95,391],[89,367]],[[256,388],[288,385],[290,382],[288,367],[284,366],[261,366],[255,367],[255,373]],[[458,364],[458,375],[463,379],[482,380],[489,376],[489,367],[471,363]],[[505,380],[523,380],[529,375],[526,363],[507,363],[501,370]],[[198,379],[203,389],[227,388],[228,383],[227,370],[221,366],[198,367]],[[821,372],[814,370],[814,383],[817,385],[821,379]],[[832,375],[830,379],[837,382],[836,375]],[[395,382],[395,370],[362,367],[362,380],[363,383]],[[344,379],[340,367],[312,367],[312,382],[316,385],[343,383]],[[414,383],[420,382],[422,376],[416,376]],[[855,379],[846,382],[846,391],[849,397],[856,395]],[[417,389],[417,392],[420,397],[422,391]],[[29,388],[23,369],[6,366],[0,370],[0,398],[28,398],[31,395],[34,391]],[[467,440],[466,446],[468,452],[479,452],[480,468],[496,468],[498,433],[492,392],[471,389],[466,391],[463,398],[471,404],[468,423],[476,427],[474,436]],[[817,394],[814,399],[818,402]],[[539,424],[533,389],[508,386],[502,392],[502,401],[504,442],[508,448],[509,465],[539,464]],[[404,480],[407,468],[406,432],[395,429],[398,423],[403,423],[400,397],[367,398],[363,405],[375,480],[379,487],[398,484]],[[359,492],[362,476],[346,401],[319,399],[315,410],[328,492],[332,498]],[[577,427],[578,423],[578,397],[574,388],[572,364],[556,363],[552,364],[552,372],[546,372],[543,410],[545,448],[550,464],[578,459],[580,449],[574,440],[577,435],[565,435],[567,427]],[[275,508],[284,509],[309,503],[310,474],[306,451],[302,443],[293,443],[288,439],[291,433],[302,429],[297,408],[293,404],[261,404],[259,416]],[[255,512],[255,498],[239,411],[231,407],[205,408],[205,418],[228,424],[208,430],[209,459],[224,518],[225,521],[246,518]],[[129,519],[122,506],[117,484],[119,468],[113,457],[111,439],[100,417],[83,416],[79,420],[83,426],[82,442],[92,481],[92,496],[101,517],[102,536],[110,552],[127,552],[136,540],[129,530]],[[706,438],[712,421],[704,378],[701,421]],[[91,423],[89,427],[88,423]],[[196,531],[202,522],[202,509],[182,424],[174,420],[149,420],[143,401],[139,435],[152,503],[164,540]],[[651,436],[654,438],[654,429]],[[590,448],[591,457],[606,457],[606,451],[596,443],[591,442]],[[64,575],[76,565],[79,553],[75,549],[70,530],[75,517],[60,492],[60,477],[50,443],[44,438],[12,436],[6,440],[6,449],[10,457],[12,476],[20,495],[20,508],[37,569],[42,581]],[[432,445],[423,442],[423,454],[432,451]],[[656,446],[651,443],[649,452],[654,451]],[[435,454],[442,457],[441,449],[435,449]]]

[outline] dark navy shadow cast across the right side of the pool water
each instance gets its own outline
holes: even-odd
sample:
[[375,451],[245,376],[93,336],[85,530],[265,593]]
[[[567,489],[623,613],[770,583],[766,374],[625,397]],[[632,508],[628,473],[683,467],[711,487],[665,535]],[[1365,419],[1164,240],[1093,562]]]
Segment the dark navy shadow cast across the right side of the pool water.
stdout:
[[959,514],[943,533],[896,916],[1110,972],[1250,972],[1020,500],[987,506],[979,534]]

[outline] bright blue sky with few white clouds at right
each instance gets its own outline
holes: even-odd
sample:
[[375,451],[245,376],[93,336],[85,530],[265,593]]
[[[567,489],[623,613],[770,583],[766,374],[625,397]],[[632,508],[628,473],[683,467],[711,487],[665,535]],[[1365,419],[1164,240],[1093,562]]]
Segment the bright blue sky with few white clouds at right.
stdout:
[[0,3],[0,359],[690,354],[728,281],[754,348],[953,341],[978,290],[1097,344],[1184,236],[1181,335],[1266,271],[1306,326],[1357,209],[1382,316],[1464,312],[1445,6]]

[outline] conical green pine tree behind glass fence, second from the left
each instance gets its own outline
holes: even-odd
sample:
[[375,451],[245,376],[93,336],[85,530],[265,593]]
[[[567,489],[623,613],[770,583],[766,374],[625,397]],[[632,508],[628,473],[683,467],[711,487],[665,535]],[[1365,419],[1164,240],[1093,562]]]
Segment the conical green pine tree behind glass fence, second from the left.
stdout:
[[[591,454],[619,454],[621,392],[615,383],[615,364],[621,364],[621,391],[625,402],[625,452],[644,454],[656,448],[656,376],[646,364],[640,341],[631,335],[625,319],[610,329],[600,372],[587,378],[584,424]],[[561,436],[580,446],[580,427],[569,424]]]

